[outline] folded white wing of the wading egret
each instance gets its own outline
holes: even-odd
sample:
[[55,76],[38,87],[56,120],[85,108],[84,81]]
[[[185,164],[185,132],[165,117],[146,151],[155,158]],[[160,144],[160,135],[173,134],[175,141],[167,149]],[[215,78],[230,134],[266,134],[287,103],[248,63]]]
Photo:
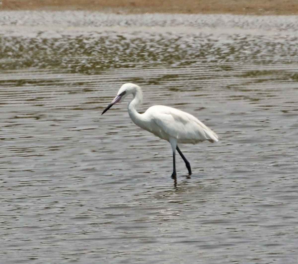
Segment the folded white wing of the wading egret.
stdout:
[[[165,107],[163,110],[155,112],[153,117],[153,121],[159,127],[159,134],[176,138],[179,143],[195,144],[204,140],[218,141],[215,132],[193,115],[170,107]],[[157,136],[160,137],[160,135]],[[162,138],[168,140],[168,138]]]

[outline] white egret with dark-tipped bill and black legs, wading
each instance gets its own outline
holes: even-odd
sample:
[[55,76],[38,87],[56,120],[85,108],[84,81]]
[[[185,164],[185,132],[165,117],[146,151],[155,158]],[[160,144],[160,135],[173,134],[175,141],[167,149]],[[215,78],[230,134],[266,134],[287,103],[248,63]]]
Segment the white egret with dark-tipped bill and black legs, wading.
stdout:
[[178,144],[196,144],[205,140],[213,143],[218,141],[218,136],[215,132],[193,115],[168,106],[155,105],[148,108],[143,114],[138,113],[136,109],[142,104],[142,90],[138,85],[132,83],[126,83],[121,86],[117,96],[103,110],[102,114],[108,111],[114,104],[121,103],[130,94],[133,96],[133,99],[128,102],[128,114],[131,120],[142,129],[170,142],[173,150],[172,178],[176,178],[176,149],[184,160],[189,175],[191,175],[190,163],[180,151]]

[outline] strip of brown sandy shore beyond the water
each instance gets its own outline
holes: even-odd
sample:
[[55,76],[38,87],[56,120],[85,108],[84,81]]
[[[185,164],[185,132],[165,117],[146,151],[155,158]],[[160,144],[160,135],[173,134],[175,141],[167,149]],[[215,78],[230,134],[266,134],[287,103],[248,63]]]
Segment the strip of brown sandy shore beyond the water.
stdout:
[[1,10],[297,15],[298,0],[0,0]]

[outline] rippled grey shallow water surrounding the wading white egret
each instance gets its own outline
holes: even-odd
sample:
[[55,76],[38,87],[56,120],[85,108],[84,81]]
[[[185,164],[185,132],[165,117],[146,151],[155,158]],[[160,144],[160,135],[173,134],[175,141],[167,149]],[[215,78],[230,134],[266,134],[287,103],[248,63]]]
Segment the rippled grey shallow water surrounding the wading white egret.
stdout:
[[[1,263],[297,263],[297,17],[75,14],[1,12]],[[128,81],[220,137],[176,186]]]

